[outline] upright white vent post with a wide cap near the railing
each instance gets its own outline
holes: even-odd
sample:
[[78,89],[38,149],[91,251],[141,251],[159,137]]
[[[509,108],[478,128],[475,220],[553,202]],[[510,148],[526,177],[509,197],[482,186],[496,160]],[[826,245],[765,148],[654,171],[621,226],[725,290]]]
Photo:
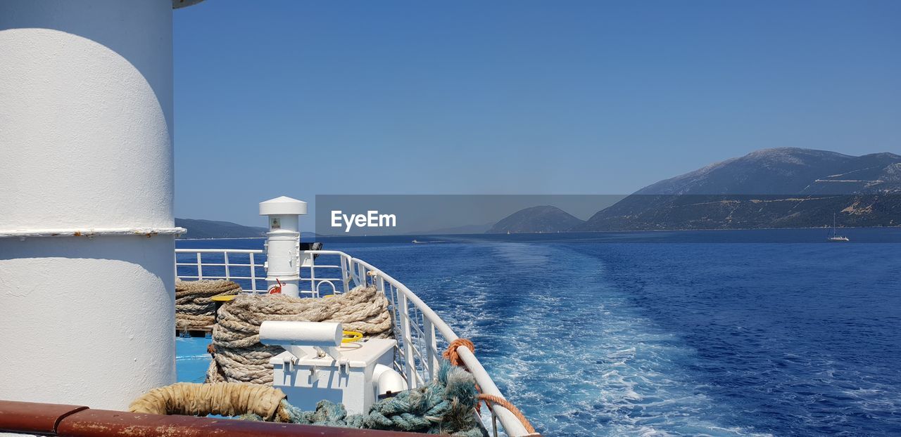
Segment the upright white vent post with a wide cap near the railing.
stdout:
[[266,286],[282,294],[300,295],[300,216],[306,202],[281,196],[259,203],[259,215],[268,216],[266,234]]

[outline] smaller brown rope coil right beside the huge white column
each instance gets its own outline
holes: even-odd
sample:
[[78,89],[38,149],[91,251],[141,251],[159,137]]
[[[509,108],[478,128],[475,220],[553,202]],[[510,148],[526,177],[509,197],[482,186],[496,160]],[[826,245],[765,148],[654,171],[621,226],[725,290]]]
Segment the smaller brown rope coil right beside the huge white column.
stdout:
[[241,286],[232,281],[175,281],[175,327],[203,329],[215,318],[214,296],[238,294]]

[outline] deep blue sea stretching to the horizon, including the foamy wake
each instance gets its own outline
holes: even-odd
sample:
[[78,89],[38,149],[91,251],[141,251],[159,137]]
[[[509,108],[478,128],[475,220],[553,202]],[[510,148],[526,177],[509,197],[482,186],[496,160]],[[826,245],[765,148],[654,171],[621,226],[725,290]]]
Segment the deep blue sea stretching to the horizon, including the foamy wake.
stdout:
[[[901,229],[718,232],[326,245],[476,343],[546,435],[901,435]],[[207,342],[178,340],[180,380]]]

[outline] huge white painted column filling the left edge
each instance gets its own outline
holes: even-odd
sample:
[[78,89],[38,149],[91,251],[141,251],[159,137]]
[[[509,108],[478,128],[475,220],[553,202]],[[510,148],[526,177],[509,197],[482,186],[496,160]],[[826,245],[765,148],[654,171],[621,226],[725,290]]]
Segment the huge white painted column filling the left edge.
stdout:
[[0,399],[175,381],[171,0],[0,2]]

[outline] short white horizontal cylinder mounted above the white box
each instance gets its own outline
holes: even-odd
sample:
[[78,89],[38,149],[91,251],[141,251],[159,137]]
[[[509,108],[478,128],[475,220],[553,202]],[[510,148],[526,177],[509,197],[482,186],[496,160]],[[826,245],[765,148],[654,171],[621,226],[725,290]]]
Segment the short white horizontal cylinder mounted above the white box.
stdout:
[[259,325],[259,343],[277,346],[340,346],[340,323],[267,320]]

